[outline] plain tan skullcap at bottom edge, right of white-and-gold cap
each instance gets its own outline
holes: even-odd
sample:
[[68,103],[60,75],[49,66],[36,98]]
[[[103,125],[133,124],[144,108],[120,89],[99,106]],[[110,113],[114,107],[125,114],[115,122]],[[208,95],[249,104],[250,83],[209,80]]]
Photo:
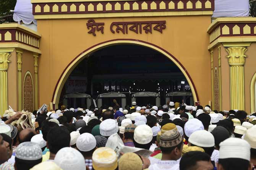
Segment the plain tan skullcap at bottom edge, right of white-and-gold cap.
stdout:
[[142,170],[143,162],[135,153],[125,153],[118,161],[118,170]]

